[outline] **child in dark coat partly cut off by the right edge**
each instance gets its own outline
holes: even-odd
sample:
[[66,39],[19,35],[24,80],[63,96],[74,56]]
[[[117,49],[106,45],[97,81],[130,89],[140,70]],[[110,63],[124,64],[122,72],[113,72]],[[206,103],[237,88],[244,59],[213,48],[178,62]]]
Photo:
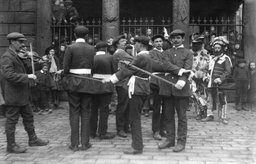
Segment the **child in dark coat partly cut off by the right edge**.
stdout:
[[255,70],[255,62],[249,63],[250,70],[250,89],[247,92],[247,102],[251,106],[252,111],[256,111],[256,70]]

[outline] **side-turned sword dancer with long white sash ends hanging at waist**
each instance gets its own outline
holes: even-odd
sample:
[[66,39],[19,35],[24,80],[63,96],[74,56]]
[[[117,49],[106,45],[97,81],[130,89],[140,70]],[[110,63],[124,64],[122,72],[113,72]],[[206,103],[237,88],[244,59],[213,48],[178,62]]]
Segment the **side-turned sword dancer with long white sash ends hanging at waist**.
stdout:
[[[134,38],[135,49],[138,53],[131,65],[137,66],[145,71],[151,72],[152,61],[150,55],[148,55],[148,43],[149,40],[145,36],[139,36]],[[126,62],[129,64],[130,62]],[[143,104],[147,100],[147,96],[150,94],[149,87],[149,75],[132,69],[131,67],[126,67],[108,79],[104,79],[103,83],[116,83],[125,78],[128,78],[125,82],[124,88],[128,90],[129,95],[129,107],[130,115],[129,120],[131,124],[131,135],[132,144],[131,148],[124,150],[125,154],[142,154],[143,153],[143,137],[141,131],[141,109]]]

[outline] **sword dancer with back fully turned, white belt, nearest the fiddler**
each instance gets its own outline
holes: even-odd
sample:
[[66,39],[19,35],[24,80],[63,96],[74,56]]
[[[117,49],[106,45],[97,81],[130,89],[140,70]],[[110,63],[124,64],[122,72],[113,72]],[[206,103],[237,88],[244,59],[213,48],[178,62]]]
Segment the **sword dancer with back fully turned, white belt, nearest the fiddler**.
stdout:
[[[77,26],[75,29],[76,43],[67,46],[63,61],[63,70],[57,72],[64,74],[78,75],[85,78],[92,78],[91,69],[95,50],[93,46],[85,43],[89,30],[84,26]],[[81,117],[81,150],[87,150],[92,145],[90,140],[90,103],[93,93],[93,82],[85,78],[74,76],[67,77],[68,101],[70,106],[70,127],[71,144],[69,149],[79,150],[79,122]]]

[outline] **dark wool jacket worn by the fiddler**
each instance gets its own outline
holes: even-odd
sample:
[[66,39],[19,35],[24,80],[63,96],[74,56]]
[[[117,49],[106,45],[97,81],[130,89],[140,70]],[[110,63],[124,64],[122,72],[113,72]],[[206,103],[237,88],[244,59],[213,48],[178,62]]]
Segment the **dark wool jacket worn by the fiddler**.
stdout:
[[[7,48],[1,61],[1,78],[6,81],[4,98],[6,105],[24,106],[29,104],[29,77],[32,74],[32,65],[28,66],[15,52]],[[41,65],[34,63],[35,71]]]

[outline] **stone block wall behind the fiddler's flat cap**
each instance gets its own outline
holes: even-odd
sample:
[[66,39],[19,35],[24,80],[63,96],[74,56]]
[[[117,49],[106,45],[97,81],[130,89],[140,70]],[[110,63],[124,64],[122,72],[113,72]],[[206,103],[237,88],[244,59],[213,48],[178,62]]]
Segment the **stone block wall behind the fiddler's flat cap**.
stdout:
[[0,56],[9,47],[6,35],[19,32],[26,36],[25,46],[35,46],[36,0],[0,0]]

